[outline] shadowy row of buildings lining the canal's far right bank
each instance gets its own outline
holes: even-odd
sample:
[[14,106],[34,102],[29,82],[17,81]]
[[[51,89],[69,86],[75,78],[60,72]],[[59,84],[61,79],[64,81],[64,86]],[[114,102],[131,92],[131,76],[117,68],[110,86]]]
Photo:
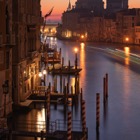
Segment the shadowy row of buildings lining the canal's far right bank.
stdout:
[[62,24],[57,28],[59,38],[140,44],[139,8],[128,9],[128,0],[108,0],[104,15],[100,15],[88,6],[83,8],[88,2],[77,0],[75,8],[62,14]]

